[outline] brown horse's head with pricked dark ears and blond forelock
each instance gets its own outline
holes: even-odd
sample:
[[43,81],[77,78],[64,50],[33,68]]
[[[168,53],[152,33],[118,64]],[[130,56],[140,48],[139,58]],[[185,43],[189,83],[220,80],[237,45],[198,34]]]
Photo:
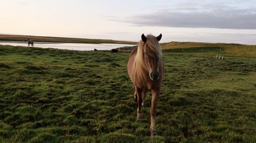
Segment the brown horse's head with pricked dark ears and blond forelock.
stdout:
[[150,74],[151,80],[158,80],[160,73],[159,73],[159,57],[162,54],[160,45],[158,41],[162,38],[162,34],[158,37],[153,35],[147,35],[146,37],[144,34],[141,35],[141,39],[144,42],[144,46],[142,47],[143,51],[143,59],[145,63],[145,67]]

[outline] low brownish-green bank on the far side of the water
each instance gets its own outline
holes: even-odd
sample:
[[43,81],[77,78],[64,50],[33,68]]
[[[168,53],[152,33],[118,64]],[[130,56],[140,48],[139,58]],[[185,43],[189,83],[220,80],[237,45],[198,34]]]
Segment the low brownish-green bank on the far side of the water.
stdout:
[[45,36],[0,34],[1,41],[28,41],[28,38],[32,39],[34,42],[137,44],[137,42],[117,41],[117,40],[107,40],[107,39],[84,39],[84,38],[65,38],[65,37],[45,37]]

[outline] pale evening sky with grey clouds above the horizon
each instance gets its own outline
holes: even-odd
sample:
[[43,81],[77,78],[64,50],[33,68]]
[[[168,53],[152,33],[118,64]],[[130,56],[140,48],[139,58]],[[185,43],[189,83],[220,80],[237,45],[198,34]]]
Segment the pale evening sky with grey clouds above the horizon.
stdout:
[[256,1],[0,0],[0,34],[256,44]]

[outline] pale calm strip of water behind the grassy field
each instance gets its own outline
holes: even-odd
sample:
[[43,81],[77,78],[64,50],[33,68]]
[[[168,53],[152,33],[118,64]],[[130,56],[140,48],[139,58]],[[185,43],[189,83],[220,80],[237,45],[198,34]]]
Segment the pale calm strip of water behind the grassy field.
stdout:
[[[28,46],[28,42],[17,41],[0,41],[0,45],[12,45],[12,46]],[[31,46],[31,45],[30,45]],[[88,44],[88,43],[49,43],[49,42],[34,42],[35,47],[41,48],[56,48],[56,49],[68,49],[68,50],[111,50],[125,46],[136,46],[130,44]]]

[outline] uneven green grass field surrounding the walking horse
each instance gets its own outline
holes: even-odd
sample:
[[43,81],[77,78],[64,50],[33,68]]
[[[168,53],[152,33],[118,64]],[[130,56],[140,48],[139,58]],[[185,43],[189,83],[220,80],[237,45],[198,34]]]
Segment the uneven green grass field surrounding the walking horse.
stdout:
[[256,48],[172,44],[155,137],[150,93],[136,121],[130,53],[0,45],[0,142],[256,142]]

